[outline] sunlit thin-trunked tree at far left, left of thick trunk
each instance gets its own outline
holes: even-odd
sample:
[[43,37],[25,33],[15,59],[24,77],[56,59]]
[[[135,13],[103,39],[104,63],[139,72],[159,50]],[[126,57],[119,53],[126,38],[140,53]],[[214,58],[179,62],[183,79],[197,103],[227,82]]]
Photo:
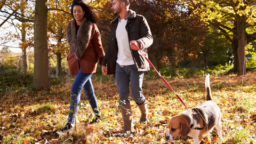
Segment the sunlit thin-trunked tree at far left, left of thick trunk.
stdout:
[[[8,22],[16,29],[14,33],[12,31],[6,33],[5,36],[2,37],[2,43],[17,43],[17,41],[21,41],[19,47],[22,50],[22,69],[25,73],[28,73],[28,49],[34,46],[34,38],[31,38],[32,33],[30,31],[33,26],[31,22],[34,22],[34,12],[32,11],[34,3],[28,3],[27,0],[10,0],[3,1],[1,5],[4,9],[2,10],[0,7],[0,12],[4,14],[2,17],[5,18],[1,26],[3,26],[5,22]],[[15,20],[19,22],[15,22]]]

